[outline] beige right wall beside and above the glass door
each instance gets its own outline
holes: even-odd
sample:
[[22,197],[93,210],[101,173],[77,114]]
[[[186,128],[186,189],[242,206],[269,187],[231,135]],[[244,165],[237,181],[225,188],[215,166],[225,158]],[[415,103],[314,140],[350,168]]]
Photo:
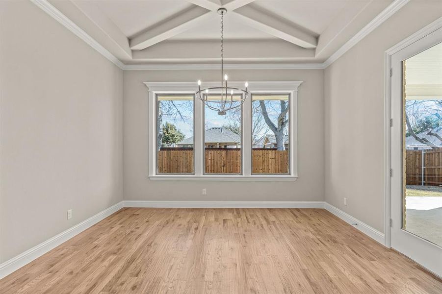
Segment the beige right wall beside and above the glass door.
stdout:
[[325,200],[381,232],[384,52],[441,16],[440,0],[411,1],[325,70]]

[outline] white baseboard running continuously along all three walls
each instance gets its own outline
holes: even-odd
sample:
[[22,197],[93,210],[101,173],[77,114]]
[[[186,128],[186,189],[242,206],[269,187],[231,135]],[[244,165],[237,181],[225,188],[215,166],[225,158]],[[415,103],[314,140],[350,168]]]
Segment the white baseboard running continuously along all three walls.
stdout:
[[66,231],[52,237],[51,239],[26,250],[25,252],[0,264],[0,279],[20,269],[34,259],[42,256],[56,246],[68,241],[85,229],[117,212],[123,207],[152,207],[152,208],[325,208],[343,221],[353,225],[368,237],[385,245],[385,235],[370,227],[358,219],[350,216],[335,206],[324,201],[145,201],[125,200],[121,201],[89,219],[78,223]]

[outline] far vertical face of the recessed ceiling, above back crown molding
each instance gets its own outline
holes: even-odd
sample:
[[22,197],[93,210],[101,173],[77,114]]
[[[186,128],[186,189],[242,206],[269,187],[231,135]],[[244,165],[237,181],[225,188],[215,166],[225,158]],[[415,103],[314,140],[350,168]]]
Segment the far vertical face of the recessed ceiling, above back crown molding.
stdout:
[[[169,40],[134,51],[132,61],[150,63],[219,62],[218,40]],[[179,50],[177,50],[179,48]],[[284,40],[224,40],[224,61],[302,61],[314,58],[314,49],[294,46]]]

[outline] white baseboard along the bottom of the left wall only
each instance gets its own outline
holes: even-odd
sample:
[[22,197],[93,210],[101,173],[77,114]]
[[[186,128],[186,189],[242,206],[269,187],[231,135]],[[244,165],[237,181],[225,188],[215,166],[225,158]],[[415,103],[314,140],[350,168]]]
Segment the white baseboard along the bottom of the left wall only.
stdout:
[[46,240],[45,242],[40,243],[39,245],[36,245],[30,248],[29,250],[26,250],[25,252],[11,258],[10,260],[5,261],[4,263],[0,264],[0,279],[12,273],[13,271],[20,269],[21,267],[33,261],[34,259],[42,256],[46,252],[55,248],[56,246],[68,241],[69,239],[78,235],[85,229],[91,227],[92,225],[96,224],[99,221],[104,220],[105,218],[107,218],[108,216],[110,216],[111,214],[117,212],[122,208],[123,208],[123,201],[115,205],[112,205],[109,208],[104,209],[98,214],[90,217],[85,221],[78,223],[77,225],[67,229],[64,232],[61,232],[60,234],[52,237],[51,239]]

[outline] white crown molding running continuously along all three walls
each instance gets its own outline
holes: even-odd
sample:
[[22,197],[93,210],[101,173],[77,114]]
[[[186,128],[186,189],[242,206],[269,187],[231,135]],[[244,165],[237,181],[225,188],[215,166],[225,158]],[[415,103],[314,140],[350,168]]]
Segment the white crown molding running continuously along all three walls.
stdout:
[[[323,63],[255,63],[255,64],[225,64],[228,70],[322,70],[327,68],[345,52],[364,39],[379,25],[388,20],[394,13],[407,4],[410,0],[394,0],[387,8],[378,14],[371,22],[365,25],[356,35],[348,40],[341,48],[333,53]],[[94,38],[72,22],[68,17],[52,6],[48,0],[31,0],[53,19],[64,25],[78,38],[97,50],[109,61],[125,71],[173,71],[173,70],[218,70],[219,64],[123,64],[109,50],[100,45]]]

